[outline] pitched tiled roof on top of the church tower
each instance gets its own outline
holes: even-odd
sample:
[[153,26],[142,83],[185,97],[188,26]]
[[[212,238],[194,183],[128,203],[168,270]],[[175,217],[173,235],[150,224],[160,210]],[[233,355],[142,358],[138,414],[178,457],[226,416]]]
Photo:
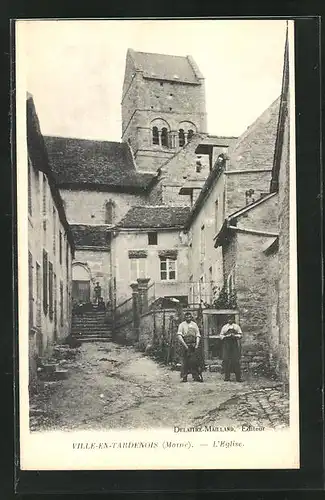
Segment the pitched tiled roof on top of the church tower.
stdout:
[[130,52],[136,68],[143,71],[144,77],[185,83],[200,83],[189,57],[151,54],[134,50]]

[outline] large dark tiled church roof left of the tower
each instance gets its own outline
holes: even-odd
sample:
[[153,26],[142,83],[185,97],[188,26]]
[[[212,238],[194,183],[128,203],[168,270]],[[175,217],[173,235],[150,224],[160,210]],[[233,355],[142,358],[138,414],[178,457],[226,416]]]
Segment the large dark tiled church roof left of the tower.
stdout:
[[152,174],[136,171],[127,143],[45,136],[59,186],[91,184],[121,190],[143,190]]

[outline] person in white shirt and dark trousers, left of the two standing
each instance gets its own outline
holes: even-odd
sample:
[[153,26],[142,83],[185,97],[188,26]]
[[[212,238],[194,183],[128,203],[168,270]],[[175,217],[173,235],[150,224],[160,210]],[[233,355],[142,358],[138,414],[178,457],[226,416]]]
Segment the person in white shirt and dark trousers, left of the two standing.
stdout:
[[190,312],[185,313],[185,321],[180,323],[177,337],[182,346],[181,381],[187,382],[187,376],[191,373],[193,380],[203,382],[198,349],[201,334]]

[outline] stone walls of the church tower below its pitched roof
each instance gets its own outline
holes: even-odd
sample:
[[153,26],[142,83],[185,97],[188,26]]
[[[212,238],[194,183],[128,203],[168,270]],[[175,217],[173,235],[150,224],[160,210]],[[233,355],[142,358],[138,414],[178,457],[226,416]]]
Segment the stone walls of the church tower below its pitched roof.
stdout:
[[[152,122],[164,120],[168,147],[152,144]],[[122,98],[122,140],[128,141],[139,170],[155,172],[178,149],[178,130],[206,132],[204,80],[186,84],[144,78],[128,52]]]

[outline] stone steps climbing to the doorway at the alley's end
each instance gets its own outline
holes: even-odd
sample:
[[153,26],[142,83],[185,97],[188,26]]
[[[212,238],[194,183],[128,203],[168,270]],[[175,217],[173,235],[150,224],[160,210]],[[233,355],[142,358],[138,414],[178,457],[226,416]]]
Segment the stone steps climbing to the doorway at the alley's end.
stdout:
[[94,309],[73,314],[71,335],[80,342],[109,341],[112,339],[112,325],[105,311]]

